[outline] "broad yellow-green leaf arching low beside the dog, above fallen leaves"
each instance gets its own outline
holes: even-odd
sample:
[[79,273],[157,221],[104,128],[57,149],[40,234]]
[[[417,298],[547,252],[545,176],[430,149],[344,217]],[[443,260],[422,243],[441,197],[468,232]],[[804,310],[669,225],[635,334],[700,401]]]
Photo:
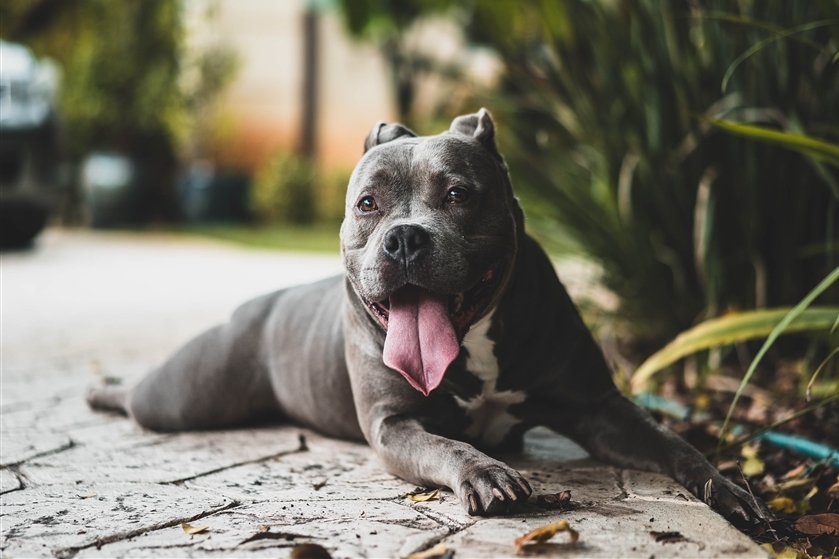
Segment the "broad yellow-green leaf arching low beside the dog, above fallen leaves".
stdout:
[[[697,351],[769,336],[790,310],[778,308],[729,314],[682,332],[638,367],[632,375],[632,392],[640,391],[656,372]],[[807,309],[790,321],[784,332],[828,331],[837,316],[839,307]]]

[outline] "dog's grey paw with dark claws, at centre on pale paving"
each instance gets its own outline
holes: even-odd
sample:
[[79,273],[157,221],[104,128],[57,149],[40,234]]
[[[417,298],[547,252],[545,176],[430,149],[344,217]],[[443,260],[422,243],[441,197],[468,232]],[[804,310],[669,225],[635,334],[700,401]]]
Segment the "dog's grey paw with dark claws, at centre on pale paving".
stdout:
[[461,480],[457,497],[473,516],[504,514],[533,492],[520,473],[497,460],[467,468]]

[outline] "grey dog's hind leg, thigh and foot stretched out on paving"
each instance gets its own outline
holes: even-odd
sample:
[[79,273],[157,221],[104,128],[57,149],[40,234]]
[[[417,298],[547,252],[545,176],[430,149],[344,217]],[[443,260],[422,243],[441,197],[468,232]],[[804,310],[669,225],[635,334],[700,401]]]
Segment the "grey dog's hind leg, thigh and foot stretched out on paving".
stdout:
[[88,402],[124,410],[157,431],[228,427],[278,413],[261,347],[262,326],[280,294],[242,305],[230,322],[188,342],[130,391],[105,387]]

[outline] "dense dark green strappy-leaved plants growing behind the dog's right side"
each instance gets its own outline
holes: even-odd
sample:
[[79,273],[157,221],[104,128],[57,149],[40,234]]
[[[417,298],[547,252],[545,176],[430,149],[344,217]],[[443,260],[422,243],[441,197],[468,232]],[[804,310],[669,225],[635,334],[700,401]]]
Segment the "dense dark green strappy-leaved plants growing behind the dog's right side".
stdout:
[[636,340],[792,305],[839,263],[837,170],[698,118],[839,140],[835,2],[343,6],[351,30],[383,44],[450,10],[498,53],[498,87],[472,104],[500,121],[529,229],[602,265]]

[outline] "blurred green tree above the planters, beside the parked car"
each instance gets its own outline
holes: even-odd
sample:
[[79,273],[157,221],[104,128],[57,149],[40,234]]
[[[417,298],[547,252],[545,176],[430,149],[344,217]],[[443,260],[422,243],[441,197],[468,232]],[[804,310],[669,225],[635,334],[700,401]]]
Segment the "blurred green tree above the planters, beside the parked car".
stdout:
[[139,164],[146,218],[173,216],[182,47],[177,0],[9,0],[0,37],[63,66],[65,150],[114,150]]

